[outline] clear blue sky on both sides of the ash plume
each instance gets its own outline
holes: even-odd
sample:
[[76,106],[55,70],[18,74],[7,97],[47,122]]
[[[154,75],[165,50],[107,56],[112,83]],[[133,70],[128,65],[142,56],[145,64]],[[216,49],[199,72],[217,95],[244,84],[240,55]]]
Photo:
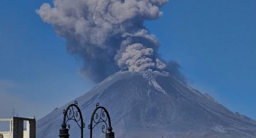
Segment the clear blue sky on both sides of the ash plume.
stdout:
[[[35,13],[43,2],[0,1],[0,118],[13,107],[41,118],[95,86]],[[178,61],[191,86],[256,119],[256,1],[170,0],[161,10],[145,23],[161,56]]]

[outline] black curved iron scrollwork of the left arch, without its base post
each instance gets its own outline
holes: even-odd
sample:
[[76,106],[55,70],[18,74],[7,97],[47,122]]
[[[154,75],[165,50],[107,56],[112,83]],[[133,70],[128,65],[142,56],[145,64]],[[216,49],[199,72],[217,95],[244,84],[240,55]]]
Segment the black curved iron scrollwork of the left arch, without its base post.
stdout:
[[63,124],[61,126],[63,128],[66,128],[66,126],[67,126],[68,129],[70,129],[70,125],[67,124],[67,122],[70,120],[75,121],[76,124],[81,129],[81,138],[83,138],[85,124],[83,121],[83,116],[82,116],[81,110],[78,107],[77,101],[75,101],[73,104],[70,104],[69,106],[67,106],[66,110],[63,110],[63,114],[64,114],[64,118],[63,118]]

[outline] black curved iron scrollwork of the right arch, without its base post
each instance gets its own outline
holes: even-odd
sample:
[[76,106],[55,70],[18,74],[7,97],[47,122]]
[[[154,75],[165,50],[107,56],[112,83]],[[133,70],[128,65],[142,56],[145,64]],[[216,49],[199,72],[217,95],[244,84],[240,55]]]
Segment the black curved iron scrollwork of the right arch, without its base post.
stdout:
[[107,131],[112,131],[110,115],[108,114],[105,107],[99,106],[99,103],[96,104],[96,109],[92,113],[92,118],[89,124],[90,138],[92,138],[92,130],[96,125],[101,124],[102,133],[107,133]]

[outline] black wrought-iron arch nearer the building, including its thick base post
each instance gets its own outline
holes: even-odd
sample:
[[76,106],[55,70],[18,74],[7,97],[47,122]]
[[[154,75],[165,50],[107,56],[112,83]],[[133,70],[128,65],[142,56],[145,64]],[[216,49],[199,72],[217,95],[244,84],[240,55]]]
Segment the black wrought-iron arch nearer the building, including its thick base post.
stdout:
[[[76,110],[74,110],[76,109]],[[73,120],[76,122],[76,124],[80,127],[81,129],[81,138],[84,137],[84,121],[83,121],[83,115],[81,113],[80,108],[78,107],[77,101],[75,101],[73,104],[70,104],[67,106],[66,110],[63,110],[63,124],[61,125],[61,130],[60,130],[60,138],[68,138],[69,137],[69,129],[70,125],[67,124],[68,121]],[[80,122],[80,124],[79,124]],[[66,128],[68,127],[68,129]]]

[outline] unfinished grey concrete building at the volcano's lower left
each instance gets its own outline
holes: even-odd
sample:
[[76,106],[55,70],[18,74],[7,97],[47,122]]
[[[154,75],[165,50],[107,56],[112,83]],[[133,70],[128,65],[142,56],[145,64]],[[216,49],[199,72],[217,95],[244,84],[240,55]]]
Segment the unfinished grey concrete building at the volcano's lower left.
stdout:
[[[36,119],[35,118],[18,118],[0,119],[10,122],[9,131],[0,131],[0,138],[36,138]],[[26,129],[24,130],[24,121]]]

